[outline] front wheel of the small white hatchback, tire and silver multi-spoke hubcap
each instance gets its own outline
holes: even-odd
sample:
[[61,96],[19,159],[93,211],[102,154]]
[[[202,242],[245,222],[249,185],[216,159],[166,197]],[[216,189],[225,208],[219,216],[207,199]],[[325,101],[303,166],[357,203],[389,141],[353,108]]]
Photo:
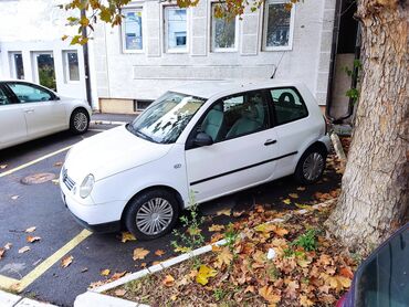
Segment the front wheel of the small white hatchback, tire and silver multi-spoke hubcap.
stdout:
[[[162,215],[158,212],[160,208]],[[159,215],[154,215],[158,213]],[[178,216],[179,204],[174,193],[157,189],[148,190],[134,198],[125,212],[124,221],[136,239],[147,241],[170,232]]]

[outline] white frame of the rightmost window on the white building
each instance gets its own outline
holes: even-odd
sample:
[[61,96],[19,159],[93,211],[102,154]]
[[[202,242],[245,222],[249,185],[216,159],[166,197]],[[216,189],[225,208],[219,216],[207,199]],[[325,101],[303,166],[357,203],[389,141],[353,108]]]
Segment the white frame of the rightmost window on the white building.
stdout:
[[289,45],[286,46],[268,46],[268,25],[269,25],[269,6],[270,4],[285,4],[285,0],[266,0],[263,6],[263,33],[262,33],[262,51],[290,51],[293,50],[294,23],[295,23],[295,4],[290,11],[290,34]]

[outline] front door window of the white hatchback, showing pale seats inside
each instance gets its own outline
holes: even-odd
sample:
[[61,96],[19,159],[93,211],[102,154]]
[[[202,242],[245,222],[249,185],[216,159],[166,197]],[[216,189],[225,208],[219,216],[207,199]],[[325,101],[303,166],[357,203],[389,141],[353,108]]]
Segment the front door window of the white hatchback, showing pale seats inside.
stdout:
[[221,98],[207,113],[199,130],[214,142],[269,128],[268,103],[260,91]]

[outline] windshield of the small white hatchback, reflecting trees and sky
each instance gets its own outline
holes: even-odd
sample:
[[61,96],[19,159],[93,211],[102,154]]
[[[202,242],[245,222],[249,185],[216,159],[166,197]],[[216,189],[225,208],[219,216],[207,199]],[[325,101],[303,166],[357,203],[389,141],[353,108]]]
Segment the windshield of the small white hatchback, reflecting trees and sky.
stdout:
[[168,92],[151,104],[127,129],[147,140],[175,142],[206,99]]

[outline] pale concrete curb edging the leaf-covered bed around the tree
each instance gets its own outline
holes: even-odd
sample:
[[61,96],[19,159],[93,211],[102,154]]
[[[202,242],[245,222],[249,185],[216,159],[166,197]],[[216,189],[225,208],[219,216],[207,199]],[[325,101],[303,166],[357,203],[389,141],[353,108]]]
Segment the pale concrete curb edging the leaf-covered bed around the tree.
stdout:
[[[334,202],[336,201],[336,199],[332,199],[332,200],[327,200],[325,202],[322,202],[322,203],[318,203],[318,204],[314,204],[312,205],[310,210],[307,209],[301,209],[301,210],[295,210],[294,211],[294,214],[305,214],[312,210],[318,210],[321,208],[325,208],[325,207],[329,207],[332,205]],[[286,214],[284,215],[283,218],[281,219],[273,219],[269,222],[265,222],[265,224],[272,224],[272,223],[283,223],[285,222],[289,218],[291,218],[293,214]],[[119,307],[119,306],[124,306],[124,307],[149,307],[149,305],[145,305],[145,304],[138,304],[136,301],[132,301],[132,300],[127,300],[127,299],[122,299],[122,298],[117,298],[117,297],[113,297],[113,296],[108,296],[108,295],[104,295],[102,294],[103,292],[106,292],[106,290],[109,290],[109,289],[113,289],[113,288],[116,288],[118,286],[122,286],[126,283],[129,283],[129,282],[133,282],[133,280],[136,280],[136,279],[139,279],[146,275],[149,275],[149,274],[155,274],[157,272],[160,272],[167,267],[170,267],[172,265],[176,265],[176,264],[179,264],[183,261],[187,261],[187,260],[190,260],[195,256],[199,256],[199,255],[202,255],[202,254],[206,254],[208,252],[210,252],[212,250],[212,246],[213,245],[224,245],[227,243],[226,239],[223,240],[220,240],[216,243],[212,243],[212,244],[209,244],[209,245],[204,245],[202,247],[199,247],[195,251],[191,251],[189,253],[186,253],[186,254],[181,254],[177,257],[174,257],[174,258],[170,258],[170,260],[167,260],[162,263],[159,263],[157,265],[153,265],[153,266],[149,266],[147,268],[144,268],[141,271],[138,271],[136,273],[133,273],[133,274],[129,274],[129,275],[126,275],[115,282],[112,282],[112,283],[108,283],[106,285],[103,285],[103,286],[99,286],[99,287],[96,287],[96,288],[93,288],[93,289],[88,289],[86,293],[84,294],[81,294],[78,295],[76,298],[75,298],[75,301],[74,301],[74,307],[88,307],[88,306],[101,306],[101,307]]]

